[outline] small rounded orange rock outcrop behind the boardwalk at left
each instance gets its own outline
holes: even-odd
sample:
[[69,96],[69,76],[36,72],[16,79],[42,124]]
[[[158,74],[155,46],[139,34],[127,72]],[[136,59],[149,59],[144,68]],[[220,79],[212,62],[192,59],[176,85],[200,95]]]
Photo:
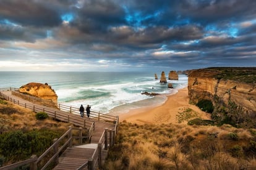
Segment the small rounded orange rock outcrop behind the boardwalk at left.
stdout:
[[54,103],[57,103],[58,96],[51,89],[51,86],[48,84],[41,84],[41,83],[28,83],[22,87],[20,87],[19,91],[24,94],[30,94],[35,97],[39,97],[41,99],[51,100]]

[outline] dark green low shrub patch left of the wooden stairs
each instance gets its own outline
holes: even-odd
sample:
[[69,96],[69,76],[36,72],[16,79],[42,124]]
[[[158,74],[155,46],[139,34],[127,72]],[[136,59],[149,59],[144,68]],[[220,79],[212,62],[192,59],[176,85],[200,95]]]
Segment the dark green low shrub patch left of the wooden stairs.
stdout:
[[6,162],[25,160],[33,154],[41,155],[61,134],[61,131],[49,129],[5,132],[0,135],[0,155]]

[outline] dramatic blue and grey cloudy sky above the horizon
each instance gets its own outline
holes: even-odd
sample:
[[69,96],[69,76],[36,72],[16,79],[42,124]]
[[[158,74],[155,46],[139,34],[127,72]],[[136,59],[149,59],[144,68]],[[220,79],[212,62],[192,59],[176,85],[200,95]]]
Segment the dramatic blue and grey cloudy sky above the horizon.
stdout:
[[256,67],[255,0],[0,0],[0,71]]

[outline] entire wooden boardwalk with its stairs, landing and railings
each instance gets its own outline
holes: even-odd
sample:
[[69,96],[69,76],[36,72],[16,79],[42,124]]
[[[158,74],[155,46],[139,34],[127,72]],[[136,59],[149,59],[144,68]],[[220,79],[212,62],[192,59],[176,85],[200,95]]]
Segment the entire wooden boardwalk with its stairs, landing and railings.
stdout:
[[95,169],[106,158],[114,144],[119,117],[91,110],[90,118],[81,117],[79,108],[62,103],[49,107],[49,100],[22,94],[17,88],[2,88],[0,96],[35,113],[43,111],[58,121],[73,124],[53,145],[40,156],[10,164],[0,169],[14,169],[30,164],[30,169]]

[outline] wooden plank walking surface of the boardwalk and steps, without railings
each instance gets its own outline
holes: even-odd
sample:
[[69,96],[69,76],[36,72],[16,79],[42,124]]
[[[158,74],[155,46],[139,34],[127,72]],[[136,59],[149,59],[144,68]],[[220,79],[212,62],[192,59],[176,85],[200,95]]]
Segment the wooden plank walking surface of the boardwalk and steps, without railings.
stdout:
[[[60,111],[57,108],[50,108],[50,107],[42,106],[40,104],[32,103],[27,100],[24,100],[20,97],[17,97],[16,95],[12,95],[11,91],[1,91],[1,94],[4,94],[7,97],[9,97],[8,99],[11,99],[11,101],[14,100],[14,103],[15,103],[15,100],[19,101],[18,103],[27,103],[25,104],[25,107],[28,105],[33,105],[33,111],[35,111],[35,107],[38,110],[45,110],[45,108],[47,108],[51,111],[55,111],[55,113],[56,111]],[[62,111],[61,114],[63,115],[61,115],[60,117],[63,117],[63,118],[68,114],[70,119],[70,113],[67,113],[66,111]],[[92,165],[93,167],[92,169],[95,169],[95,167],[97,167],[99,164],[99,163],[96,164],[96,162],[99,160],[97,156],[100,155],[102,160],[105,160],[105,157],[106,157],[107,151],[103,149],[104,147],[103,143],[105,142],[105,140],[112,141],[113,139],[110,140],[108,137],[108,138],[105,138],[105,140],[103,139],[103,141],[100,141],[100,140],[102,140],[103,135],[104,134],[106,135],[106,133],[108,134],[108,132],[111,132],[111,135],[113,134],[113,131],[108,131],[108,129],[113,129],[114,132],[116,132],[115,131],[116,130],[115,128],[117,127],[116,123],[114,124],[113,122],[109,123],[106,121],[99,121],[98,119],[100,119],[100,117],[98,119],[96,118],[88,119],[88,118],[81,118],[80,115],[77,115],[77,114],[72,114],[72,116],[75,117],[75,122],[81,121],[81,123],[74,123],[76,126],[79,124],[80,125],[82,124],[82,126],[85,127],[85,124],[83,125],[85,121],[93,122],[94,130],[92,131],[90,144],[83,144],[75,147],[68,147],[61,154],[61,156],[59,156],[59,159],[58,159],[59,163],[54,169],[79,169],[79,167],[82,166],[83,164],[88,164],[90,159],[93,159],[94,162]],[[117,117],[117,123],[118,123],[118,117]],[[105,132],[106,129],[107,131]],[[101,146],[101,148],[99,148],[99,146]],[[82,168],[82,169],[87,169],[88,167],[89,166],[87,165],[85,166],[85,168]]]

